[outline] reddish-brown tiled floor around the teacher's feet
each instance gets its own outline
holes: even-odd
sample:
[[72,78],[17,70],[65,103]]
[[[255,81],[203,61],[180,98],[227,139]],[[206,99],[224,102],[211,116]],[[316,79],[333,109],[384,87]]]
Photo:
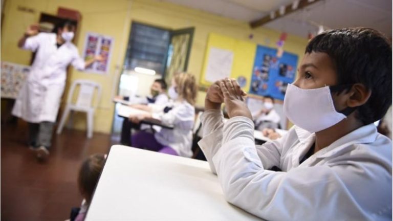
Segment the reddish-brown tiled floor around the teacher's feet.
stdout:
[[28,149],[27,124],[1,127],[1,220],[65,220],[82,198],[77,173],[92,153],[106,153],[110,135],[64,129],[55,135],[51,156],[39,163]]

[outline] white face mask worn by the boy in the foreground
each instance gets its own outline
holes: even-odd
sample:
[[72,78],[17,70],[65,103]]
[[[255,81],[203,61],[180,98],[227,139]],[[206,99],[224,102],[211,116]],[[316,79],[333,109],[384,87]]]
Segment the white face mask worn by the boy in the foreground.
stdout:
[[[348,116],[354,110],[347,107],[343,113]],[[329,128],[346,118],[344,114],[336,111],[329,86],[305,90],[288,84],[284,98],[284,114],[296,126],[310,132]]]

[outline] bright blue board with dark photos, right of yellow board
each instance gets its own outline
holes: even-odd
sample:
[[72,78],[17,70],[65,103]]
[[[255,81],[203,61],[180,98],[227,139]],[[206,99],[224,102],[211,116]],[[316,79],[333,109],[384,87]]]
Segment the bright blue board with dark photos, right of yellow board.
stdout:
[[288,83],[295,79],[297,59],[297,55],[288,52],[284,52],[282,57],[278,58],[276,49],[258,45],[250,94],[269,95],[283,100]]

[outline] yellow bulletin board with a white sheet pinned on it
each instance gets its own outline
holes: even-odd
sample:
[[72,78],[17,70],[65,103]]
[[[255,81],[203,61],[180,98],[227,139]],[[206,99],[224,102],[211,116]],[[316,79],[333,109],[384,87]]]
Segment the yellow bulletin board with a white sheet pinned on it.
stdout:
[[235,78],[244,91],[249,91],[256,43],[210,33],[200,85],[208,87],[225,77]]

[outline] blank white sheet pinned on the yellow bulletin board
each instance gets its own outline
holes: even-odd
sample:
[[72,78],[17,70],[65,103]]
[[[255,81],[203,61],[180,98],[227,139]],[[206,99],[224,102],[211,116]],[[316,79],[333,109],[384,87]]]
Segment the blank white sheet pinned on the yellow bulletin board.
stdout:
[[232,51],[211,47],[207,61],[205,80],[215,82],[216,80],[230,77],[232,63]]

